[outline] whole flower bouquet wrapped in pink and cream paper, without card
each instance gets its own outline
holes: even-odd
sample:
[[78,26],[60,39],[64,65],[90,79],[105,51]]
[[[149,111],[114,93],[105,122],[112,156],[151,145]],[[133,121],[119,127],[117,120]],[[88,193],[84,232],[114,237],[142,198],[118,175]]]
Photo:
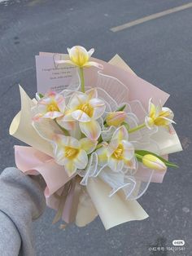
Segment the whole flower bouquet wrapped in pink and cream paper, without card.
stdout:
[[181,151],[181,143],[172,111],[163,107],[169,95],[118,55],[106,63],[90,58],[93,52],[74,46],[55,61],[76,66],[77,86],[39,91],[37,99],[20,87],[10,134],[30,146],[15,146],[15,163],[45,179],[54,223],[83,227],[99,215],[108,229],[148,217],[137,198],[163,181],[175,166],[168,153]]

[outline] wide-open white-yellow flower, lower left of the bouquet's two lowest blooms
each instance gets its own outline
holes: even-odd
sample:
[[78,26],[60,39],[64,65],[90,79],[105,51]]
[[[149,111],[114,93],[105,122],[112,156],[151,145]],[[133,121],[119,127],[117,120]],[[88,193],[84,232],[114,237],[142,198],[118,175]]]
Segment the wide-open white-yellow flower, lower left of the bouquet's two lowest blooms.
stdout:
[[64,166],[69,176],[77,169],[85,169],[88,154],[94,151],[97,141],[87,138],[77,140],[70,136],[55,135],[53,142],[55,161]]

